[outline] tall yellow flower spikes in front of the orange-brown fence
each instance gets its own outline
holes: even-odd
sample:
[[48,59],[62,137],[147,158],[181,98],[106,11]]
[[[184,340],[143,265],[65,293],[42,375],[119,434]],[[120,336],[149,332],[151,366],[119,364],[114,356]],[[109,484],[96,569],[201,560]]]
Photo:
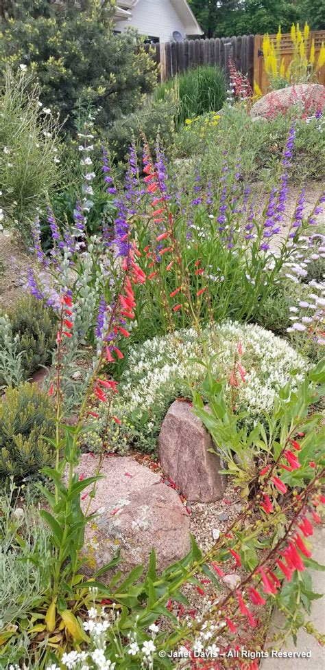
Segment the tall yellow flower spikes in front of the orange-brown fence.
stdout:
[[311,39],[308,23],[300,30],[299,23],[291,25],[293,58],[289,65],[282,56],[282,33],[279,26],[275,40],[265,34],[263,56],[265,71],[272,89],[280,89],[294,84],[317,81],[317,74],[325,63],[325,47],[322,43],[318,58],[315,56],[315,40]]

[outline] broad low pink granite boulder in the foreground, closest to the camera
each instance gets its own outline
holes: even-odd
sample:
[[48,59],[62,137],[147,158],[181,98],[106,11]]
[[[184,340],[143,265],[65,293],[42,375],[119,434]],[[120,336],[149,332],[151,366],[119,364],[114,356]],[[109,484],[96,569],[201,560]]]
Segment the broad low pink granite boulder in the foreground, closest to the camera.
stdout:
[[[77,471],[85,478],[95,473],[97,459],[83,454]],[[143,563],[152,548],[157,570],[167,568],[189,551],[189,515],[176,491],[160,483],[160,476],[139,465],[134,458],[110,457],[101,468],[90,512],[99,514],[86,528],[86,573],[106,565],[121,551],[123,574]],[[82,501],[84,510],[89,498]],[[101,579],[108,581],[112,574]]]

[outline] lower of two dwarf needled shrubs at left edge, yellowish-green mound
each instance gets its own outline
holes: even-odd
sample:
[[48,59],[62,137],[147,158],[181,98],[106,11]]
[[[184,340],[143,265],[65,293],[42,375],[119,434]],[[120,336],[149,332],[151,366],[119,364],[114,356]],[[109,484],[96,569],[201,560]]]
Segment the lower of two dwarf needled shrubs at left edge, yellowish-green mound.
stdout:
[[53,434],[49,399],[34,384],[8,388],[0,403],[0,477],[23,478],[51,463],[45,440]]

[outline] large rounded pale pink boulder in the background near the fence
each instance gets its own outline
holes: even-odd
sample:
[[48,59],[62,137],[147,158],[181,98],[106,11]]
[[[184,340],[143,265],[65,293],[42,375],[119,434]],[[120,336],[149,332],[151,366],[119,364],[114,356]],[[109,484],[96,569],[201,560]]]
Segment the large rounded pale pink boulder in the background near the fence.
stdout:
[[289,109],[297,102],[305,105],[311,114],[318,108],[322,109],[325,104],[325,87],[320,84],[299,84],[271,91],[253,104],[251,115],[252,118],[269,118],[270,115]]

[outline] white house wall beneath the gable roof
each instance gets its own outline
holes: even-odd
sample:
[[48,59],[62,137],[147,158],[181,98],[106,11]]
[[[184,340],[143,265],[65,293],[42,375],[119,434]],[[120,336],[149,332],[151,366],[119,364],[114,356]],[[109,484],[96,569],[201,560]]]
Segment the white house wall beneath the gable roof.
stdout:
[[160,42],[168,42],[174,30],[185,32],[185,26],[169,0],[139,0],[132,8],[130,21],[119,21],[117,30],[135,27],[141,35],[159,37]]

